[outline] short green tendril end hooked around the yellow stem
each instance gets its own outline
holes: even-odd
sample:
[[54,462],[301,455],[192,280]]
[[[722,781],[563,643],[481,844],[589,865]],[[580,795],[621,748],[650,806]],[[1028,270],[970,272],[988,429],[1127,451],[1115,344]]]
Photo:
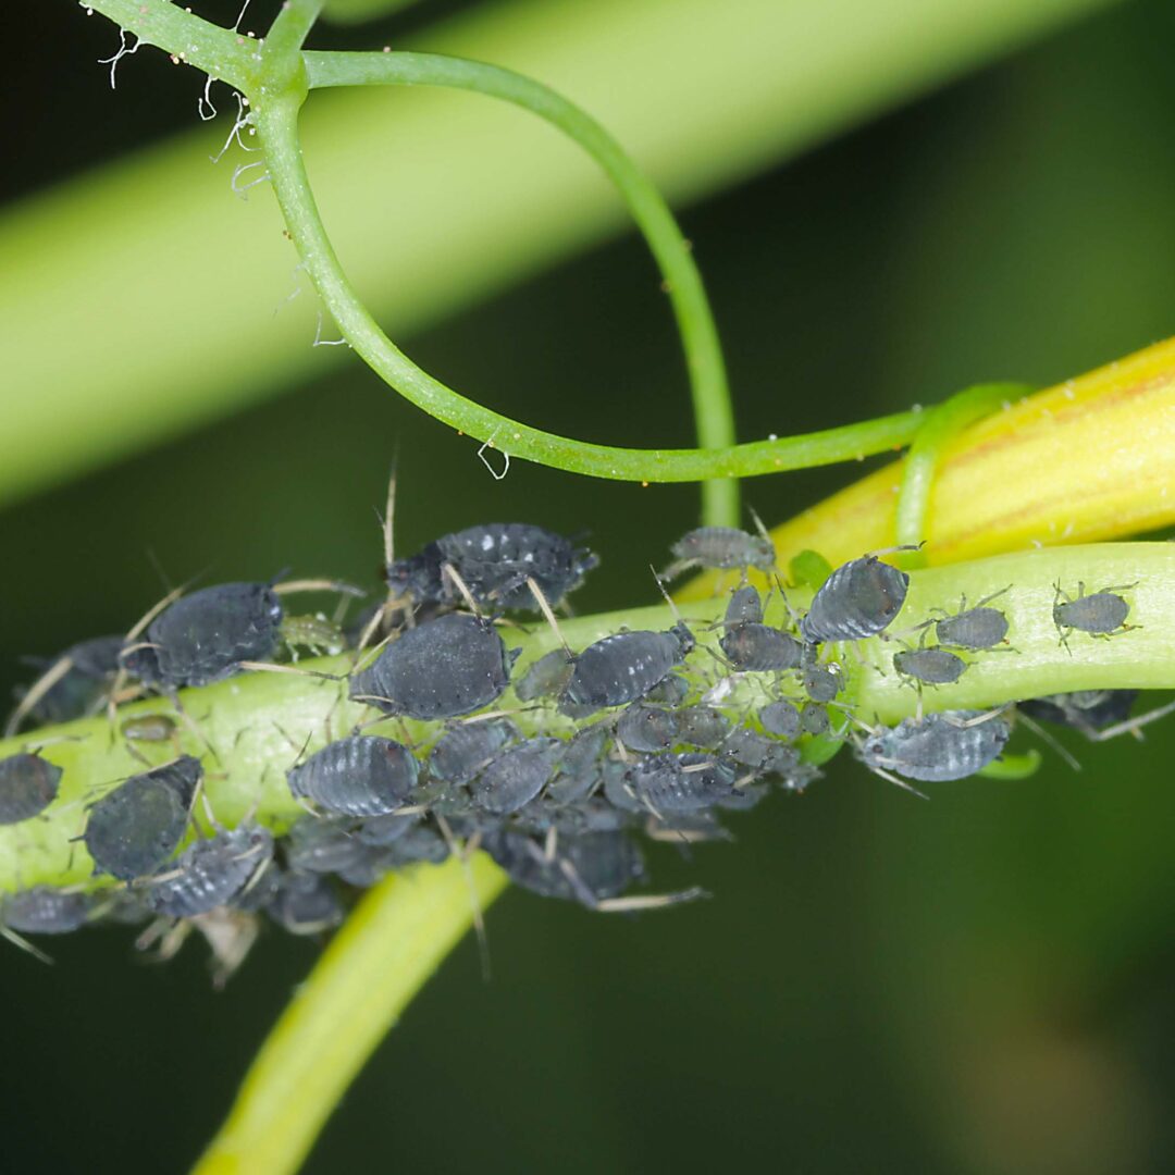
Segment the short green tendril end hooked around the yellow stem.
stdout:
[[[897,511],[899,546],[918,546],[925,540],[931,488],[934,485],[942,452],[955,434],[994,412],[1001,404],[1020,400],[1034,390],[1023,383],[981,383],[956,392],[929,410],[902,465]],[[922,551],[904,556],[902,566],[925,565],[926,556]]]

